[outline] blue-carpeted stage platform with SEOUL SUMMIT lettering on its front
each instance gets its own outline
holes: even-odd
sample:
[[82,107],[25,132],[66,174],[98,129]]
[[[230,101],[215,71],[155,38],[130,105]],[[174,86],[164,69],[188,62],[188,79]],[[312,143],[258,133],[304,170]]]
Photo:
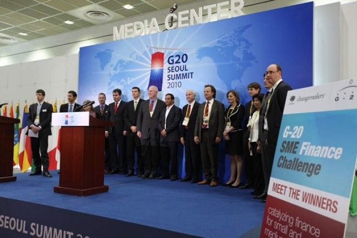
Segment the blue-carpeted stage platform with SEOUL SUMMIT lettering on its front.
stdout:
[[54,193],[51,173],[0,184],[0,238],[237,238],[262,221],[252,190],[114,174],[109,192],[76,197]]

